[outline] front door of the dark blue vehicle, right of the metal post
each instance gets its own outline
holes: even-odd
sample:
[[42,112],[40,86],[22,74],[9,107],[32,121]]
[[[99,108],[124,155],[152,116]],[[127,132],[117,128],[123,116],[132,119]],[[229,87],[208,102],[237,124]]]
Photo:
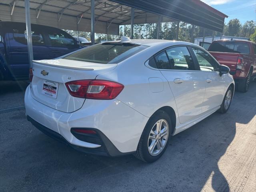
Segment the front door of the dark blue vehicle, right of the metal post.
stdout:
[[47,36],[50,41],[49,48],[52,53],[51,58],[57,58],[62,55],[68,54],[70,52],[78,50],[78,48],[80,47],[79,44],[77,44],[77,41],[72,38],[72,36],[62,30],[49,28]]

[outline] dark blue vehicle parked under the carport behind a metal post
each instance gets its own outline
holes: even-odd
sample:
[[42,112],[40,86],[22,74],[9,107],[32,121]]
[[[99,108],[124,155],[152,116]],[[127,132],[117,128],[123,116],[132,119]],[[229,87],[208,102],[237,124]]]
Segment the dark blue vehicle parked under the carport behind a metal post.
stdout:
[[[58,28],[31,24],[34,60],[53,59],[83,48]],[[0,21],[0,80],[28,79],[26,24]]]

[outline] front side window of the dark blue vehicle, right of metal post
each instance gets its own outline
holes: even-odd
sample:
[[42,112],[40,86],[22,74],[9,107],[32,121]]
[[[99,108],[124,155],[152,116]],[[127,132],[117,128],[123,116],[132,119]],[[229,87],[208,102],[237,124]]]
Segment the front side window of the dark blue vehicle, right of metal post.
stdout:
[[59,31],[48,32],[48,36],[52,46],[66,47],[75,44],[74,39],[71,36]]

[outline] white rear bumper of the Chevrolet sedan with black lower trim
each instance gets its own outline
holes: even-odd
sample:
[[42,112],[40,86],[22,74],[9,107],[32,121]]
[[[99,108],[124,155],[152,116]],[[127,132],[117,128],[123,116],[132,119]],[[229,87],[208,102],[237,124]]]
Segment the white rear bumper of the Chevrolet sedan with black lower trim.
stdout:
[[[26,116],[39,130],[87,153],[120,156],[136,151],[148,118],[118,100],[89,100],[79,110],[66,113],[50,108],[25,93]],[[90,128],[102,144],[76,138],[72,128]]]

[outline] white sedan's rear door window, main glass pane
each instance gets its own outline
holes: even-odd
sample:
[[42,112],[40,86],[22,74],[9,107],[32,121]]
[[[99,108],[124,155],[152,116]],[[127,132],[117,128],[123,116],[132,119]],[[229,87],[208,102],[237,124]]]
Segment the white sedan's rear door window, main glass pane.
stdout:
[[174,47],[166,50],[171,68],[174,70],[194,70],[194,64],[186,47]]

